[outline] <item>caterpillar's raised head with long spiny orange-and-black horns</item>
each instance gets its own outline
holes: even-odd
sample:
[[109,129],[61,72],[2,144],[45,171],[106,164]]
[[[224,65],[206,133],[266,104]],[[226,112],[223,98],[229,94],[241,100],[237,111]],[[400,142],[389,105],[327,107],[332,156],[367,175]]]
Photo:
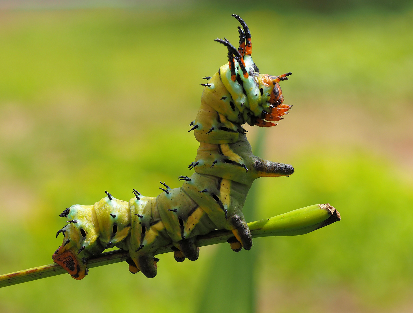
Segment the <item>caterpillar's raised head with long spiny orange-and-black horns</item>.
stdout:
[[[286,115],[290,105],[282,104],[284,97],[280,81],[287,80],[290,73],[280,76],[261,74],[251,57],[251,32],[241,17],[232,14],[240,23],[240,45],[236,49],[226,39],[215,39],[228,48],[228,65],[220,68],[219,74],[225,88],[240,111],[240,124],[248,123],[260,127],[271,127],[277,124],[281,116]],[[264,119],[266,121],[264,121]],[[270,122],[268,122],[270,121]]]

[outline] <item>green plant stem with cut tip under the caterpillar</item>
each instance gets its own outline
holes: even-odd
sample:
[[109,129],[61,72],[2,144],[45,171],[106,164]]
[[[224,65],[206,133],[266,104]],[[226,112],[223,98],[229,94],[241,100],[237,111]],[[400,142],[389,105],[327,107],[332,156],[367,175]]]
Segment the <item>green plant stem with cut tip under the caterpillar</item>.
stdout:
[[[315,204],[265,220],[250,222],[248,227],[251,230],[252,237],[295,236],[312,232],[338,220],[340,220],[340,214],[335,208],[328,204]],[[230,237],[233,237],[233,233],[228,230],[214,230],[209,234],[198,236],[196,244],[198,247],[220,244],[226,242]],[[159,248],[156,254],[168,252],[172,252],[172,244]],[[128,251],[121,249],[105,252],[95,258],[90,258],[88,268],[122,262],[128,256]],[[66,271],[60,265],[54,263],[29,268],[0,275],[0,288],[64,273]]]

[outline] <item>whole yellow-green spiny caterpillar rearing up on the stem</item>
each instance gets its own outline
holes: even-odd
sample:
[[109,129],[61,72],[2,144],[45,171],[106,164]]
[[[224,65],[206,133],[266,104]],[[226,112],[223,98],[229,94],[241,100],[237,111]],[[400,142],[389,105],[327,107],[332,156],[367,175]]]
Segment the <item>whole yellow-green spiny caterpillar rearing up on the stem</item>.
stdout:
[[146,277],[157,275],[154,251],[173,244],[175,260],[197,260],[198,235],[214,229],[232,231],[228,240],[233,251],[252,247],[252,236],[242,214],[247,193],[258,177],[290,176],[291,165],[256,157],[247,140],[243,124],[273,127],[290,110],[283,104],[279,85],[291,73],[280,76],[261,74],[252,60],[251,32],[240,22],[239,47],[225,37],[215,39],[228,50],[228,63],[207,82],[197,117],[189,126],[199,141],[191,177],[180,176],[180,188],[161,183],[157,197],[135,195],[129,201],[116,199],[109,192],[94,205],[72,205],[60,217],[66,217],[62,245],[52,258],[69,274],[81,280],[88,274],[87,262],[106,248],[116,246],[129,251],[126,261],[131,273]]

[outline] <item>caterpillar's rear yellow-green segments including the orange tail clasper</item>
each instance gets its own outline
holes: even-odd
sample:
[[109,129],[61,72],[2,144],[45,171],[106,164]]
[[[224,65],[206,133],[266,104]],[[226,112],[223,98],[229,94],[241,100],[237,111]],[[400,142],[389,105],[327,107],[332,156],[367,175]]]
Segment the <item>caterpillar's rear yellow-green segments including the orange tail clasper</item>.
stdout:
[[131,228],[128,202],[110,194],[94,205],[72,205],[60,217],[69,220],[56,234],[62,233],[64,238],[52,259],[77,280],[87,275],[90,256],[121,242]]

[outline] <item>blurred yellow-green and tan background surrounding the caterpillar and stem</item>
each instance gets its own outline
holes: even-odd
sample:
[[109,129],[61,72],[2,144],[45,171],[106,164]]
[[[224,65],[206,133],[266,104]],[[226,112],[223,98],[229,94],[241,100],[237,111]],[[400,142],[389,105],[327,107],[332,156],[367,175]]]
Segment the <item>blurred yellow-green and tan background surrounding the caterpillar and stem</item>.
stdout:
[[[187,131],[201,76],[226,62],[214,38],[237,43],[237,13],[260,71],[293,73],[281,87],[294,107],[263,130],[260,156],[295,173],[254,183],[254,216],[315,203],[342,215],[311,234],[254,240],[256,311],[413,310],[410,1],[0,1],[0,9],[0,273],[51,263],[58,214],[71,204],[92,204],[104,190],[155,196],[160,180],[175,188],[192,173],[198,143]],[[248,130],[254,143],[260,132]],[[202,248],[196,262],[161,255],[154,279],[118,263],[82,281],[2,288],[0,311],[196,312],[214,288],[220,248]]]

